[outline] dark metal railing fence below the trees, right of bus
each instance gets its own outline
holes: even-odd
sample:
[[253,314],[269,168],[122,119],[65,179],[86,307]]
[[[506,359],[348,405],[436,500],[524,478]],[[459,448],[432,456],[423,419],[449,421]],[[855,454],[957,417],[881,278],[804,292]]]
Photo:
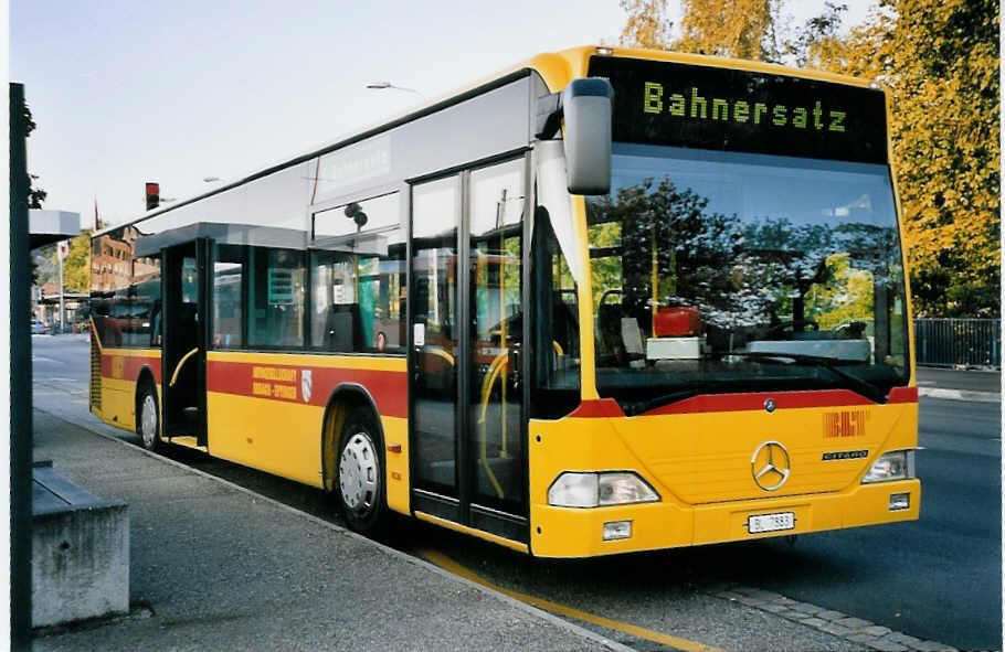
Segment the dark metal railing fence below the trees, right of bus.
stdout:
[[916,319],[918,364],[1001,368],[1001,329],[999,319]]

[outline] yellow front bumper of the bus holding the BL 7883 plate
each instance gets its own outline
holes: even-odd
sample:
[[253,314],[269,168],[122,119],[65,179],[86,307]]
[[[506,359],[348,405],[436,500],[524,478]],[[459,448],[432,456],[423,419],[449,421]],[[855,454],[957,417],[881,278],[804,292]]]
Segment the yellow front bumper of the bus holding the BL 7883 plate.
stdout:
[[[905,500],[907,504],[905,506]],[[825,530],[914,521],[921,482],[861,484],[840,493],[681,505],[658,502],[595,509],[531,507],[530,548],[540,557],[592,557],[690,545],[791,536]],[[789,523],[791,514],[791,527]],[[751,534],[780,515],[785,530]],[[625,523],[628,525],[625,525]],[[607,533],[625,538],[604,541]],[[771,526],[771,525],[769,525]]]

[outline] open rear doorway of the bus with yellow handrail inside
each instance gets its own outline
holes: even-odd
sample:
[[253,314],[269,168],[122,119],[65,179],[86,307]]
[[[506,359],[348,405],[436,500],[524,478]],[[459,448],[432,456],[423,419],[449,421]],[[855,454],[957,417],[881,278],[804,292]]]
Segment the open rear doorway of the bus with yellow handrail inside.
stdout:
[[207,445],[205,430],[205,270],[209,241],[197,239],[163,250],[163,350],[161,393],[167,439]]

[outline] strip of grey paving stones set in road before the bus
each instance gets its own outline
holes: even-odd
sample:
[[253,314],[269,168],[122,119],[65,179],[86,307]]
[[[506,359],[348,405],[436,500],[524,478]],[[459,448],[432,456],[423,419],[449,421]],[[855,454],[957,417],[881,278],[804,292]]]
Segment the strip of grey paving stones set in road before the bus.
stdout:
[[807,602],[800,602],[781,594],[763,589],[733,586],[723,589],[710,589],[705,592],[723,600],[740,602],[741,605],[766,611],[881,652],[908,652],[909,650],[959,652],[955,648],[945,643],[923,641],[861,618],[855,618],[840,611],[823,609]]

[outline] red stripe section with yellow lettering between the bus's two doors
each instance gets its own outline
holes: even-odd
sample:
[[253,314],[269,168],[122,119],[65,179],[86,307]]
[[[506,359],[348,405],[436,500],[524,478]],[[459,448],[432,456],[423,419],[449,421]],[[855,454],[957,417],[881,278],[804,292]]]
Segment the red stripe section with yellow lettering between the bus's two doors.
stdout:
[[[265,370],[256,376],[254,368]],[[310,393],[304,400],[304,374],[310,372]],[[253,362],[209,361],[207,389],[266,400],[308,404],[325,407],[331,393],[341,384],[362,386],[382,416],[409,416],[409,375],[358,368],[307,367]]]

